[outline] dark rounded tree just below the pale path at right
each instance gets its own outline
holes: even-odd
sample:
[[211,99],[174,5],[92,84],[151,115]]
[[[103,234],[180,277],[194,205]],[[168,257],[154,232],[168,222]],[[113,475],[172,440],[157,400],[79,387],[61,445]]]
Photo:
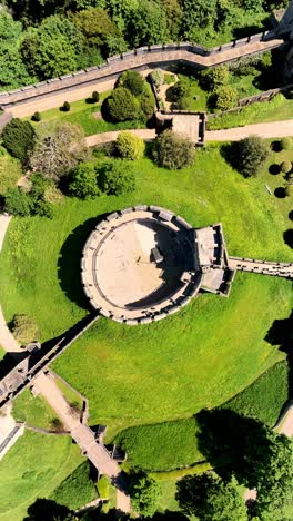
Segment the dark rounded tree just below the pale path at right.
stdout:
[[249,136],[231,146],[231,163],[244,177],[255,176],[267,157],[267,145],[259,136]]

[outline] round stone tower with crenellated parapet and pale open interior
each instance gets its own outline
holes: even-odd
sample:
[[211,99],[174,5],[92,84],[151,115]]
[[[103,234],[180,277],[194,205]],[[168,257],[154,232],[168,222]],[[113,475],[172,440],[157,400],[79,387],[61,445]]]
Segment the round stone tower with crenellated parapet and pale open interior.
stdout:
[[137,205],[108,215],[89,236],[80,264],[91,305],[129,325],[180,311],[202,279],[190,229],[160,206]]

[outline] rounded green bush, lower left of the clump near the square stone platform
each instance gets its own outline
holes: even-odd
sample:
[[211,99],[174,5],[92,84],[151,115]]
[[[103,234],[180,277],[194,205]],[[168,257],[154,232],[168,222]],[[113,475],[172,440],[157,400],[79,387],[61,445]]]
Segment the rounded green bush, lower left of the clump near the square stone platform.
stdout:
[[107,98],[105,107],[114,121],[138,119],[141,115],[139,100],[124,87],[114,89],[112,95]]

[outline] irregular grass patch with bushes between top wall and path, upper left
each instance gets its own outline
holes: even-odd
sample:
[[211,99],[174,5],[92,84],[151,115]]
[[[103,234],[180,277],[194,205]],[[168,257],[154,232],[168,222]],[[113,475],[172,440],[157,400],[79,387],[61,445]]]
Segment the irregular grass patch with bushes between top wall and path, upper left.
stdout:
[[94,112],[97,116],[101,111],[101,105],[103,100],[110,96],[111,90],[107,92],[101,92],[100,101],[98,104],[87,104],[85,99],[81,99],[79,101],[72,101],[70,104],[70,111],[63,112],[60,108],[53,108],[50,110],[46,110],[41,112],[42,120],[40,122],[32,121],[30,117],[24,118],[29,120],[34,128],[41,128],[43,122],[50,122],[53,127],[54,125],[59,124],[60,121],[65,121],[69,124],[78,124],[84,130],[85,136],[91,136],[92,134],[99,132],[109,132],[111,130],[124,130],[129,128],[144,128],[145,122],[143,121],[121,121],[118,124],[105,121],[104,119],[94,117]]

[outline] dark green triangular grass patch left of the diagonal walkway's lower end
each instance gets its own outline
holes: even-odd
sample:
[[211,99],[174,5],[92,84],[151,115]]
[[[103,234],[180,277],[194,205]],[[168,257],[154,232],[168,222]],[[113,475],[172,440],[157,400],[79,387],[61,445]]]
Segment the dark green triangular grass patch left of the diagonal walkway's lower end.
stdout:
[[54,490],[51,499],[71,510],[78,510],[98,497],[90,478],[90,464],[84,461]]

